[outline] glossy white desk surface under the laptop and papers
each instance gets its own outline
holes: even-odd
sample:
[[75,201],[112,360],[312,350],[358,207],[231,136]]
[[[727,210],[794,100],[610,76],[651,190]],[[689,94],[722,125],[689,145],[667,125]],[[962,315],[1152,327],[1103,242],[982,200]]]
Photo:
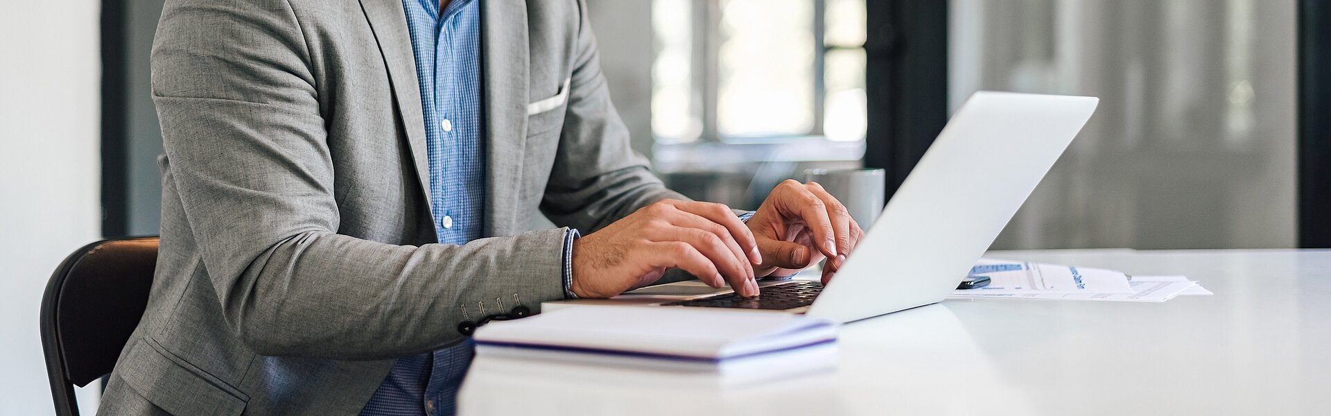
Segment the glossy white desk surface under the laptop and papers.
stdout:
[[845,325],[835,371],[751,385],[478,359],[463,415],[1331,415],[1331,251],[989,256],[1186,275],[1163,304],[946,300]]

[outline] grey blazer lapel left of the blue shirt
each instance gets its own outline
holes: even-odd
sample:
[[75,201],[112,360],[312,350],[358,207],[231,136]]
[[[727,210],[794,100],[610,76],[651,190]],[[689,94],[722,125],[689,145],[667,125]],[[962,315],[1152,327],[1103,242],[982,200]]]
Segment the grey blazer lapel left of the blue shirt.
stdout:
[[[425,144],[425,116],[421,113],[421,81],[417,79],[406,12],[399,0],[361,0],[361,8],[370,20],[370,29],[374,31],[379,52],[383,53],[383,63],[389,67],[389,80],[398,103],[398,115],[407,131],[407,147],[411,149],[417,179],[421,180],[426,204],[431,204],[430,161],[426,159],[429,153]],[[429,212],[434,212],[433,207]]]

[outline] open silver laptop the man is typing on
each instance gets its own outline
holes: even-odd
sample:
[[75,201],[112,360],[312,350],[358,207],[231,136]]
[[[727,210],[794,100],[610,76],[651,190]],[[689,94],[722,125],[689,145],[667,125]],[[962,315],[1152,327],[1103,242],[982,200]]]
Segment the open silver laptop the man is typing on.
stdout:
[[1077,96],[972,95],[827,287],[764,279],[760,296],[744,299],[692,280],[543,308],[648,304],[808,313],[847,323],[937,303],[993,244],[1098,103]]

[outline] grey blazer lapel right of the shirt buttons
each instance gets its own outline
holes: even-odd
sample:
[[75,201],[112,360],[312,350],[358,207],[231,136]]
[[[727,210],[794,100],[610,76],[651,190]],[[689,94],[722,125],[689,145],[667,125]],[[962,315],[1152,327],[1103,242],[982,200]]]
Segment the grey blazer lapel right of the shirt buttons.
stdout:
[[482,3],[486,105],[486,235],[518,229],[523,151],[527,140],[527,4]]

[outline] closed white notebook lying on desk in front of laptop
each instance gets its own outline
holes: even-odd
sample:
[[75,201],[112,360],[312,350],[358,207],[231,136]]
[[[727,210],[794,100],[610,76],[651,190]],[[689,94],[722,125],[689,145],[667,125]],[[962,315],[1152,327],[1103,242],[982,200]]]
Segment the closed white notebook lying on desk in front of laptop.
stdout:
[[600,307],[490,323],[475,341],[480,356],[680,368],[835,356],[836,333],[836,323],[804,315]]

